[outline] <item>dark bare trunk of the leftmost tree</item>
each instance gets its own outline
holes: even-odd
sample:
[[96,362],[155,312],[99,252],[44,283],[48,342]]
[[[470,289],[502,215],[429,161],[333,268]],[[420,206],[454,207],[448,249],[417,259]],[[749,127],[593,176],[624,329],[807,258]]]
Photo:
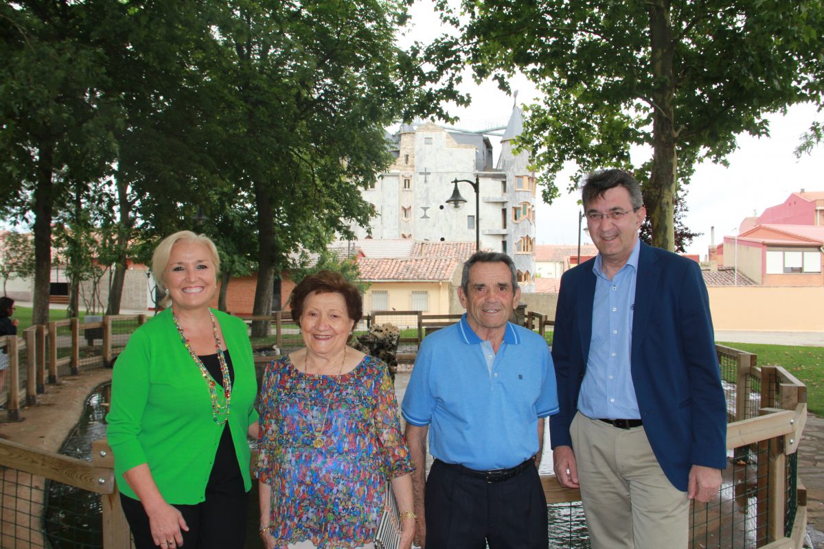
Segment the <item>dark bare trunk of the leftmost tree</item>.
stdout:
[[[45,140],[44,140],[45,141]],[[49,281],[51,280],[52,162],[54,142],[40,143],[35,188],[35,299],[31,323],[49,323]]]

